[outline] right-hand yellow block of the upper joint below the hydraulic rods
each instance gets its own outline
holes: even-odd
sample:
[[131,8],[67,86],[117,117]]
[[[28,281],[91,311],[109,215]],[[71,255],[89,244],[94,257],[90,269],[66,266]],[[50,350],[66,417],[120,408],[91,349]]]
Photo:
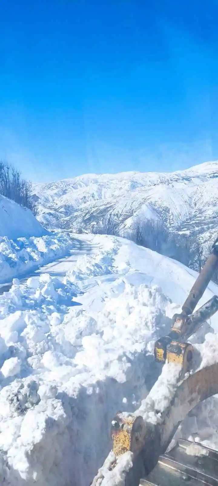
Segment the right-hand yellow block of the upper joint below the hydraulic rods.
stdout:
[[167,363],[181,364],[185,373],[190,369],[192,355],[193,346],[189,343],[171,341],[167,346]]

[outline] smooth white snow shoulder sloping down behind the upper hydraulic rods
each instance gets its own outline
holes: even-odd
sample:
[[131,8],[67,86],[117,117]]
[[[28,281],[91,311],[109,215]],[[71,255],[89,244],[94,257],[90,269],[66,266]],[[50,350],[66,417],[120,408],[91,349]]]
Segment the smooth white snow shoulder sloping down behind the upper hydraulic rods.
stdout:
[[[181,312],[181,306],[199,274],[183,263],[164,257],[148,248],[137,246],[122,238],[116,240],[120,242],[120,248],[114,255],[115,271],[125,273],[125,278],[136,286],[145,283],[149,287],[154,284],[161,287],[172,302],[176,303],[172,305],[170,317],[175,312]],[[218,286],[210,282],[196,310],[213,295],[218,295]],[[218,331],[216,315],[211,318],[211,323],[214,330]]]

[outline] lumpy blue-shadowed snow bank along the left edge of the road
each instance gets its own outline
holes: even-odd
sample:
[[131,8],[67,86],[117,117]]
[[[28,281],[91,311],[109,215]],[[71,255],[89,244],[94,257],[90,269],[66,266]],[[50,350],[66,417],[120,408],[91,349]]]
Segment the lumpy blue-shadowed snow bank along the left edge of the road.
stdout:
[[0,237],[0,283],[10,282],[16,276],[65,256],[73,247],[73,237],[61,232],[14,241]]

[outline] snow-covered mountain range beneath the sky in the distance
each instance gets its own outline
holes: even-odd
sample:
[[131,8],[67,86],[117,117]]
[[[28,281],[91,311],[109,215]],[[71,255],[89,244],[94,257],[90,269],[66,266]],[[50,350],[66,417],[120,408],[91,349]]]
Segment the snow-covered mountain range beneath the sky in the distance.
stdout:
[[180,231],[205,234],[218,227],[218,161],[173,173],[87,174],[33,184],[33,193],[38,219],[47,228],[85,230],[111,212],[123,227],[138,215],[160,218]]

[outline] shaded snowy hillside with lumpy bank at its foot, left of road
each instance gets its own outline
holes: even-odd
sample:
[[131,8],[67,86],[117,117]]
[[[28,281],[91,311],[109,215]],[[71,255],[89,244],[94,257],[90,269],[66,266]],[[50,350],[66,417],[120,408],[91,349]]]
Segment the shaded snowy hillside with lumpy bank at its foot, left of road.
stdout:
[[67,255],[75,244],[69,233],[49,233],[30,209],[0,195],[0,284]]

